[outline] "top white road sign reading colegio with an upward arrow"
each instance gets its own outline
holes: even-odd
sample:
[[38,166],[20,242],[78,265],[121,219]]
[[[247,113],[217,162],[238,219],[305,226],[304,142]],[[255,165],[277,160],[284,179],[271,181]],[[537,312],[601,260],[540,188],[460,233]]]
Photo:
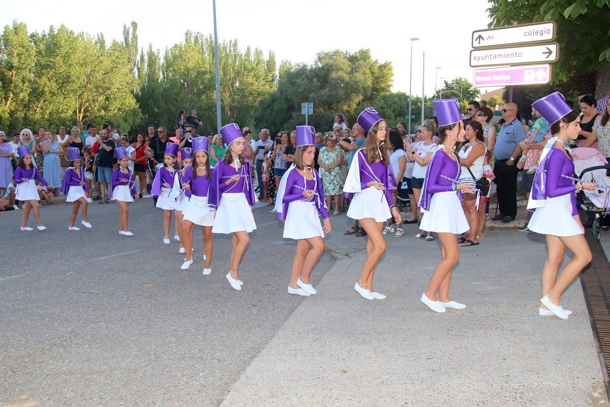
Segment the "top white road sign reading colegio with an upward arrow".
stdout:
[[548,42],[555,39],[555,22],[520,24],[472,32],[472,48]]

